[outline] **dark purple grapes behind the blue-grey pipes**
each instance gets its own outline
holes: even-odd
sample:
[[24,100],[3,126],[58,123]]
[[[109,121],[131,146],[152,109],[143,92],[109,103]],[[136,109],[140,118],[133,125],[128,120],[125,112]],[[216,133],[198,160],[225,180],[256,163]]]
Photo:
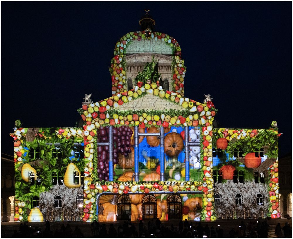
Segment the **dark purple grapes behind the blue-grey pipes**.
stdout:
[[[118,163],[118,153],[121,153],[125,157],[131,153],[130,138],[132,136],[132,130],[127,126],[120,126],[113,129],[113,141],[115,144],[113,153],[113,164]],[[109,128],[100,127],[97,130],[98,142],[108,142],[109,140]],[[109,146],[98,146],[98,177],[100,180],[109,181]],[[115,171],[113,172],[115,176]]]

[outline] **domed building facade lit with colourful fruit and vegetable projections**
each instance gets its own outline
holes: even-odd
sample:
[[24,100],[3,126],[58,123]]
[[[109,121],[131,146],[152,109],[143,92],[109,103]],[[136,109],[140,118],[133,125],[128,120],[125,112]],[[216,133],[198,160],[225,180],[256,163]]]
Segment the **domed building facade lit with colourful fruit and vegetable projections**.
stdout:
[[213,127],[210,96],[184,95],[179,43],[154,23],[117,42],[112,95],[85,95],[83,127],[16,122],[15,221],[280,217],[276,122]]

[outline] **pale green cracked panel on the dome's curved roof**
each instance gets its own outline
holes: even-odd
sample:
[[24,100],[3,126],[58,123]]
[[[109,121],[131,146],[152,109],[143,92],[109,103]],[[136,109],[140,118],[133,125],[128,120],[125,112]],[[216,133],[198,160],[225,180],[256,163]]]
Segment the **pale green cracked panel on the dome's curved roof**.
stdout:
[[158,39],[155,41],[154,38],[142,39],[140,41],[134,40],[130,44],[127,44],[126,53],[133,54],[139,52],[151,52],[157,54],[172,54],[172,45]]

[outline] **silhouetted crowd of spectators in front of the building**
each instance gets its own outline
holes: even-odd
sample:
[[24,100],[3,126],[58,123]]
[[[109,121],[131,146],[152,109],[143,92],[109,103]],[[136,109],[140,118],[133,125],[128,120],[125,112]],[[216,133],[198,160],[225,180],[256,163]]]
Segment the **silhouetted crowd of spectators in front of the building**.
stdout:
[[[98,223],[93,221],[91,223],[91,234],[90,232],[87,235],[84,235],[78,226],[71,228],[71,225],[67,223],[65,226],[62,223],[62,226],[55,231],[50,229],[49,221],[45,224],[45,230],[40,230],[38,226],[32,228],[26,223],[21,223],[19,231],[14,230],[12,237],[50,237],[50,238],[59,238],[59,237],[98,237],[98,238],[136,238],[136,237],[156,237],[156,238],[177,238],[177,237],[187,237],[187,238],[244,238],[244,237],[268,237],[269,224],[266,220],[244,223],[241,221],[239,227],[232,228],[231,230],[225,231],[222,226],[208,226],[202,222],[195,221],[179,221],[179,223],[170,224],[163,223],[157,218],[157,220],[149,220],[148,222],[140,221],[137,223],[132,223],[130,220],[124,221],[119,225],[113,223],[105,224]],[[273,229],[273,228],[271,228]],[[225,236],[224,236],[225,234]],[[278,223],[275,227],[275,235],[277,237],[287,237],[291,238],[292,229],[289,223],[285,223],[285,226],[281,227],[281,224]],[[4,236],[5,237],[5,236]]]

